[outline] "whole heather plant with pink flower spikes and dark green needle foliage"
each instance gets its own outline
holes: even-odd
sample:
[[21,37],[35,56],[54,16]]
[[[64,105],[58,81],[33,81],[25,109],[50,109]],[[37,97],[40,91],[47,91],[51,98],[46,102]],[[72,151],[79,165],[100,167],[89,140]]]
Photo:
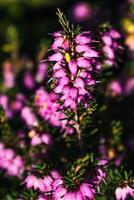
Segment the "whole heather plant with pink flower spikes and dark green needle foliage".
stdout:
[[132,77],[116,77],[122,34],[107,23],[82,30],[56,14],[61,30],[35,71],[27,59],[18,72],[3,65],[0,171],[11,187],[1,199],[134,199],[133,141],[123,141],[118,115],[134,89]]

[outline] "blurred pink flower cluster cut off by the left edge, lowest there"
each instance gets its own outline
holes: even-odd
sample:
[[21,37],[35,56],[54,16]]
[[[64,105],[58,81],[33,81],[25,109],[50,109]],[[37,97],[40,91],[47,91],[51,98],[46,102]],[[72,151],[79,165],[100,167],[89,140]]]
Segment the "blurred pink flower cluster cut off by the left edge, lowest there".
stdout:
[[16,155],[13,149],[5,148],[0,142],[0,168],[9,176],[21,177],[24,171],[24,160]]

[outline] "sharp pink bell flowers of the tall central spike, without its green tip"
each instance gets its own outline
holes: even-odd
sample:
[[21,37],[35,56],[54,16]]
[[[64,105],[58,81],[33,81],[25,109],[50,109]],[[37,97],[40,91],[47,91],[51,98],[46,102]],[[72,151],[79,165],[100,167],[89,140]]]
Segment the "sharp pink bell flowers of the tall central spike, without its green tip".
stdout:
[[99,54],[93,47],[90,32],[81,32],[72,38],[64,32],[55,32],[53,36],[53,53],[48,61],[54,62],[54,92],[63,107],[76,110],[78,104],[92,98],[89,88],[96,84],[92,73],[100,68]]

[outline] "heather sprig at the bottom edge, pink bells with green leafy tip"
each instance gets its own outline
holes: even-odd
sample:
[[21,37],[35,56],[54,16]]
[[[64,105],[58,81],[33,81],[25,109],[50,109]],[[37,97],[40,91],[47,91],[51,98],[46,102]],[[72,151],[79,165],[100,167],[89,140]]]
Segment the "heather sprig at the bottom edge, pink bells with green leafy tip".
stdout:
[[90,156],[88,155],[78,159],[65,176],[61,176],[56,170],[40,168],[38,173],[37,171],[29,173],[23,184],[25,184],[27,192],[34,191],[36,198],[40,200],[94,200],[97,187],[106,177],[103,169],[106,161],[95,162],[96,169],[93,170],[94,175],[91,179],[89,171],[93,167],[93,163],[90,163],[92,167],[89,167],[89,160]]

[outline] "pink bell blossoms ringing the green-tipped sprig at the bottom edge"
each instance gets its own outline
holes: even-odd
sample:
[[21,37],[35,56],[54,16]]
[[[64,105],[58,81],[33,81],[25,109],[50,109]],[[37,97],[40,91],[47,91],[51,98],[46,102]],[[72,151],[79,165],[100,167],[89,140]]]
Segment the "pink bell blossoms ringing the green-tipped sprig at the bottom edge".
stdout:
[[[103,161],[102,161],[103,162]],[[103,182],[103,179],[106,177],[102,165],[98,165],[96,169],[95,178],[93,180],[88,180],[84,178],[74,189],[69,189],[70,185],[67,185],[65,178],[62,177],[56,170],[50,171],[49,175],[43,177],[37,177],[30,173],[24,180],[23,184],[26,185],[28,190],[34,189],[38,191],[38,199],[46,200],[84,200],[95,199],[96,188]],[[77,182],[70,179],[70,183]]]

